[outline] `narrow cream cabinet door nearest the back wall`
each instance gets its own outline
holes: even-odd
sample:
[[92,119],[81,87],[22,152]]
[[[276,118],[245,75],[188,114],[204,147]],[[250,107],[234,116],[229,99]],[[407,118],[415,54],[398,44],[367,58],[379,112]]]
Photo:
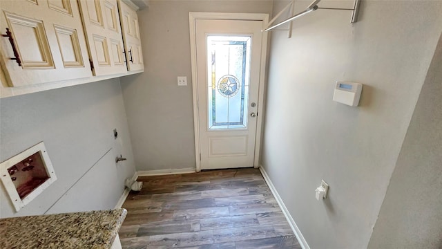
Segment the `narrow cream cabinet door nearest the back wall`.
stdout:
[[117,1],[119,18],[122,23],[124,50],[126,51],[128,71],[142,71],[144,70],[144,64],[137,12],[131,8],[131,6],[128,6],[126,1]]

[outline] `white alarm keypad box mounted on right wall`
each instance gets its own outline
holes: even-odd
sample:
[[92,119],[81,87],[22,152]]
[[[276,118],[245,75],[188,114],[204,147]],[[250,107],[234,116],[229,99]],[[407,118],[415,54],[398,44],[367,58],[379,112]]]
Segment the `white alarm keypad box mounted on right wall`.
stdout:
[[362,84],[353,82],[336,82],[333,100],[350,107],[357,107],[361,98]]

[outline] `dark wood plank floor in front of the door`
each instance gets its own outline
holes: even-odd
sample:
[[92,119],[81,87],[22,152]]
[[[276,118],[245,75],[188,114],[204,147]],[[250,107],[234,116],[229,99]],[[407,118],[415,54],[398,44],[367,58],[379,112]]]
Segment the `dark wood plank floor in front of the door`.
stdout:
[[258,169],[143,176],[131,192],[123,248],[300,249]]

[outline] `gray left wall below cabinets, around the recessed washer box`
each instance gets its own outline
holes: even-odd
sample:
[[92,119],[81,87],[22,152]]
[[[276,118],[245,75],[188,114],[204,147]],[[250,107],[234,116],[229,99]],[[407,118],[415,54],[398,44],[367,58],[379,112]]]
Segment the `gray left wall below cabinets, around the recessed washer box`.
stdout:
[[114,208],[135,173],[118,79],[3,98],[0,128],[1,162],[44,141],[58,178],[17,213],[0,184],[1,217]]

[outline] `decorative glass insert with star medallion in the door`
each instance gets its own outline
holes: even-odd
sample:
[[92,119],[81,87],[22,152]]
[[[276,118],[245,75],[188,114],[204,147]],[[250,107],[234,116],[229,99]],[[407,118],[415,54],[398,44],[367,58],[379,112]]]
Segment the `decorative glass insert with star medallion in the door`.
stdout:
[[209,129],[247,128],[250,36],[207,37]]

